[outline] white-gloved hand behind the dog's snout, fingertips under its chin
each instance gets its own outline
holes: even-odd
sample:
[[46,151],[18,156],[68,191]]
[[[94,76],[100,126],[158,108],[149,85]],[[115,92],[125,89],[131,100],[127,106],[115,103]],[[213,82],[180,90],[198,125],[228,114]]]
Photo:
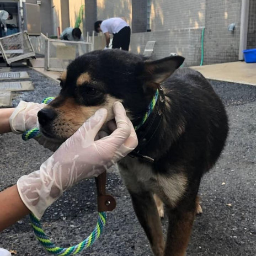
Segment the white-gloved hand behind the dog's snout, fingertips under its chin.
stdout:
[[[22,134],[23,132],[39,127],[38,111],[45,107],[44,103],[23,102],[20,101],[9,118],[10,129],[14,134]],[[35,138],[36,141],[51,151],[56,151],[60,143],[49,141],[45,136]]]

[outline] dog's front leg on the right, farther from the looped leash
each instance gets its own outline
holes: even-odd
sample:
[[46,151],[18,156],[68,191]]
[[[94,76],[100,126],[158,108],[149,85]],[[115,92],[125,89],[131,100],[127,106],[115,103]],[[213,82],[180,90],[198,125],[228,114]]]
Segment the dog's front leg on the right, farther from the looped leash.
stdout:
[[167,207],[169,218],[164,256],[185,256],[195,219],[195,209]]

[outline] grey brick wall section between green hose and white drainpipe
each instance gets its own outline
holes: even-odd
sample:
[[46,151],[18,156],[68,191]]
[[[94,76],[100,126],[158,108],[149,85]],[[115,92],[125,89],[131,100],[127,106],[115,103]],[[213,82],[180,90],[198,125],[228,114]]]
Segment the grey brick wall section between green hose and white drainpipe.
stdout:
[[[204,64],[238,61],[241,1],[206,1]],[[236,23],[234,31],[228,25]]]

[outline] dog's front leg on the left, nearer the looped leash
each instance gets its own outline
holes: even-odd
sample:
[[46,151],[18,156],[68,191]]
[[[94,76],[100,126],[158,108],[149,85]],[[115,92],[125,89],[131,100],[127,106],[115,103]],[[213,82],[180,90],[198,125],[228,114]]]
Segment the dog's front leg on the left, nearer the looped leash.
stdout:
[[146,232],[154,255],[163,256],[163,231],[152,193],[148,191],[141,191],[141,193],[129,192],[138,221]]

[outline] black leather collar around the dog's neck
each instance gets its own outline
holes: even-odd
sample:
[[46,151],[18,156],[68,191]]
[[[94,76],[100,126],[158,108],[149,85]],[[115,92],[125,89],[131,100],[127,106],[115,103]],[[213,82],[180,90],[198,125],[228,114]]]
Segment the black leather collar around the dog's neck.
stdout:
[[129,154],[129,156],[139,157],[151,163],[154,162],[153,158],[144,156],[141,152],[143,152],[143,149],[148,145],[148,143],[156,134],[163,118],[165,106],[166,97],[164,96],[163,89],[159,87],[157,103],[154,106],[150,116],[148,116],[146,122],[137,130],[138,146]]

